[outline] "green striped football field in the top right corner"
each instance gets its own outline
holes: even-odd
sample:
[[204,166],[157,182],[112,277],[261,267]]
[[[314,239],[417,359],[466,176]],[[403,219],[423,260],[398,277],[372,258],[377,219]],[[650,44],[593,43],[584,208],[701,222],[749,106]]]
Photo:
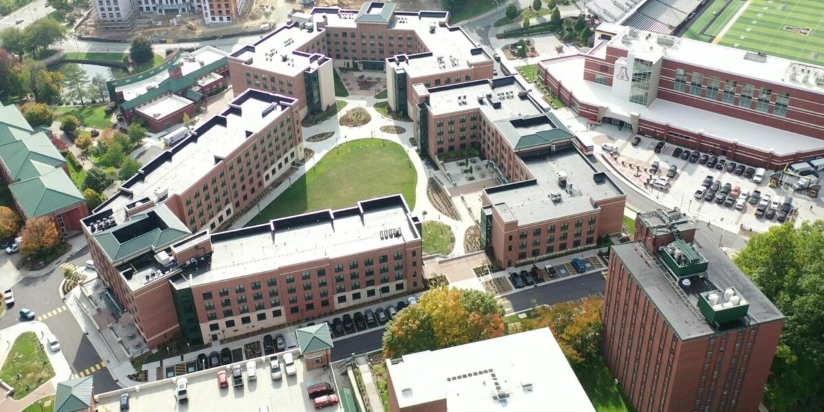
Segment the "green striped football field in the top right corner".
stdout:
[[824,2],[753,0],[727,33],[714,42],[824,65]]

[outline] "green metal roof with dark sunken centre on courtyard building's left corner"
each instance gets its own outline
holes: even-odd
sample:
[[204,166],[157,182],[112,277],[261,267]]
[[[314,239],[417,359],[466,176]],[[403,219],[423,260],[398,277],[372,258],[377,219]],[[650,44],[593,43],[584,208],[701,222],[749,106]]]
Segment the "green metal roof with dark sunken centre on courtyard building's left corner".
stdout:
[[116,262],[162,248],[190,234],[189,228],[161,204],[94,236],[109,259]]

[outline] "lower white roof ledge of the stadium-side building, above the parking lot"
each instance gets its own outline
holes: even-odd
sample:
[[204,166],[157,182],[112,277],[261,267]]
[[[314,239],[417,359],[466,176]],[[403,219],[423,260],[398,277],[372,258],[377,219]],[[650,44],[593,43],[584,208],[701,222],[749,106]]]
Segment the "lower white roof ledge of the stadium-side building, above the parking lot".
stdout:
[[710,110],[680,105],[660,98],[649,106],[631,103],[613,95],[609,86],[584,80],[583,63],[583,56],[580,55],[541,62],[553,77],[574,92],[578,101],[589,105],[606,106],[609,110],[607,115],[612,117],[629,119],[630,114],[638,113],[642,119],[649,119],[660,124],[669,123],[674,128],[689,130],[693,133],[703,132],[705,136],[725,142],[732,143],[737,139],[741,146],[764,152],[773,150],[778,155],[824,148],[822,139],[720,115]]

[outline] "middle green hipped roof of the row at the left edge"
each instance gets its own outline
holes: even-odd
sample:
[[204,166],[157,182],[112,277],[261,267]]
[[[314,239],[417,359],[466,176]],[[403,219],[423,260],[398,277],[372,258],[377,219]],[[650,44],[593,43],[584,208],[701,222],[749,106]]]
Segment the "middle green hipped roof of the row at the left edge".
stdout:
[[44,133],[30,134],[0,146],[0,161],[6,165],[12,180],[26,180],[40,176],[42,168],[35,165],[63,166],[66,160]]

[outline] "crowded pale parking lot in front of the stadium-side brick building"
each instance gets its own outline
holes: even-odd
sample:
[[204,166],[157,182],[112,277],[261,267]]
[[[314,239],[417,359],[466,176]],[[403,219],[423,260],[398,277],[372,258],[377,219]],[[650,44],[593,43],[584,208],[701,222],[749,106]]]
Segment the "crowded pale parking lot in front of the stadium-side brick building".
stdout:
[[[696,156],[695,152],[672,143],[666,143],[662,151],[656,153],[654,148],[659,143],[658,140],[639,137],[638,144],[633,145],[630,139],[612,142],[617,149],[612,165],[625,176],[632,171],[632,175],[628,177],[635,185],[649,181],[650,184],[642,189],[667,207],[681,208],[692,217],[713,222],[731,232],[741,232],[742,228],[765,232],[770,226],[780,224],[781,207],[789,198],[792,198],[792,205],[787,213],[788,221],[821,218],[816,215],[821,213],[816,210],[822,207],[820,199],[812,199],[806,194],[794,194],[792,190],[782,187],[770,187],[770,175],[775,171],[765,171],[763,179],[758,183],[753,180],[755,176],[750,176],[756,175],[756,166],[730,166],[733,162],[717,156],[715,164],[710,167],[708,164],[711,165],[714,161],[713,155],[708,153],[700,152]],[[603,147],[598,147],[597,150],[604,151]],[[685,154],[685,151],[689,151],[689,154]],[[679,156],[674,157],[673,154]],[[658,171],[651,172],[655,162],[658,162]],[[668,180],[668,185],[653,185],[656,178],[667,176],[671,166],[676,166],[677,172]],[[702,190],[705,187],[702,184],[705,184],[708,176],[712,178],[712,182],[707,189]],[[757,201],[753,199],[756,191],[759,197]],[[712,199],[709,199],[708,192],[713,192]],[[739,203],[741,194],[747,196],[747,199]],[[765,197],[770,199],[765,205],[761,205],[765,213],[756,213],[759,203]],[[775,213],[767,213],[775,206]]]

